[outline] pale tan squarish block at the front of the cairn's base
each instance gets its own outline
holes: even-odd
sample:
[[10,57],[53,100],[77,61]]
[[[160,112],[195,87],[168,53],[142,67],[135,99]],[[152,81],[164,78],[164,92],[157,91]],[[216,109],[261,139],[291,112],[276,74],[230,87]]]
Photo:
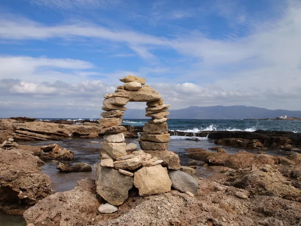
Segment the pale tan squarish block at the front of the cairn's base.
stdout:
[[143,167],[134,173],[134,185],[140,196],[159,194],[171,190],[172,181],[167,171],[159,164]]

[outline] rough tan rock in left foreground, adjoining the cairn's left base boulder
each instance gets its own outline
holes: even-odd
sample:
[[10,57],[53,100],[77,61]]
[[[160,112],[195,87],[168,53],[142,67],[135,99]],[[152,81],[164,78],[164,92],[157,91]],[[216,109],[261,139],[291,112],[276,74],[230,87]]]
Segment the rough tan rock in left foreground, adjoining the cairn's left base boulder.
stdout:
[[91,225],[99,205],[95,180],[86,178],[71,191],[57,192],[39,201],[23,216],[27,225]]

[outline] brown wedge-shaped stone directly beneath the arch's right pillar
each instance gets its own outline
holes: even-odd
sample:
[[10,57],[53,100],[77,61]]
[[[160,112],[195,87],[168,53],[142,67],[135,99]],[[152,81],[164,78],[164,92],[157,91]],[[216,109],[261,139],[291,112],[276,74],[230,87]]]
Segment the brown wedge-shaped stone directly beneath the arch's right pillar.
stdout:
[[153,157],[157,157],[158,159],[162,159],[164,162],[163,166],[167,166],[169,169],[178,170],[180,169],[180,158],[179,156],[171,151],[144,151],[145,153],[149,153]]

